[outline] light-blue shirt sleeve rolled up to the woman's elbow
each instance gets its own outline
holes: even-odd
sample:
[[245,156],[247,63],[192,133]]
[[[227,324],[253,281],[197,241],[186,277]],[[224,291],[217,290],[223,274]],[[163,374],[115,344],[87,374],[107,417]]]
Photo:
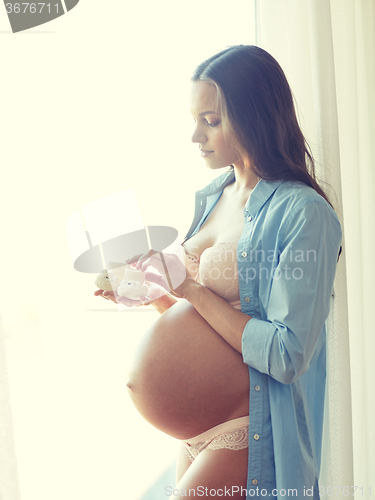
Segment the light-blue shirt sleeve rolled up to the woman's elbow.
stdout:
[[290,384],[308,370],[328,317],[342,233],[323,201],[296,207],[278,231],[277,258],[259,285],[265,317],[247,322],[242,356]]

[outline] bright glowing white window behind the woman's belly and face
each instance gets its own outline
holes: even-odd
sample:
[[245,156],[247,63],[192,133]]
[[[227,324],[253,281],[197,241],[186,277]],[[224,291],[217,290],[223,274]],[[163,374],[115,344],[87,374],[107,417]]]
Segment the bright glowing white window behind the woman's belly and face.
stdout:
[[189,78],[254,36],[252,1],[147,0],[82,1],[48,27],[2,37],[0,309],[25,499],[135,500],[175,459],[175,440],[125,387],[158,313],[94,297],[65,224],[133,188],[146,225],[183,237],[194,192],[217,175],[190,142]]

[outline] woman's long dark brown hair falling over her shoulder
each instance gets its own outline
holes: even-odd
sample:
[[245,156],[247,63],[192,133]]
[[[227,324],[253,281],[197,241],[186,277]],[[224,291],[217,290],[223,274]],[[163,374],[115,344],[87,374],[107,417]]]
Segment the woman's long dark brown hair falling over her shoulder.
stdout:
[[251,160],[258,177],[303,182],[332,206],[316,180],[286,76],[268,52],[231,46],[200,64],[192,80],[215,85],[224,133]]

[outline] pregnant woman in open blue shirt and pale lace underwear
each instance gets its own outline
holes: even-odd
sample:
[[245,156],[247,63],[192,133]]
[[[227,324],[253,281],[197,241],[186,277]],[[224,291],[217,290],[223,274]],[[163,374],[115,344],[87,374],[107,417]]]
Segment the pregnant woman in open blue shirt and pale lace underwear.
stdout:
[[191,113],[206,165],[229,169],[196,193],[180,258],[151,252],[135,264],[160,272],[147,273],[144,302],[161,316],[129,392],[181,440],[173,498],[318,499],[340,223],[266,51],[233,46],[204,61]]

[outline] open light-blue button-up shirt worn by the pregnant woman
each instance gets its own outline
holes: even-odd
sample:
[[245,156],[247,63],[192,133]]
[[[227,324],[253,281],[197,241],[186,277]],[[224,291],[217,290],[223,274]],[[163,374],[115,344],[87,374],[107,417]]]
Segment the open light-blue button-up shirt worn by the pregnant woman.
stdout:
[[[225,172],[197,191],[185,240],[234,181]],[[332,207],[303,183],[262,179],[246,203],[237,265],[241,311],[251,316],[242,335],[250,376],[247,499],[320,498],[325,322],[341,238]]]

